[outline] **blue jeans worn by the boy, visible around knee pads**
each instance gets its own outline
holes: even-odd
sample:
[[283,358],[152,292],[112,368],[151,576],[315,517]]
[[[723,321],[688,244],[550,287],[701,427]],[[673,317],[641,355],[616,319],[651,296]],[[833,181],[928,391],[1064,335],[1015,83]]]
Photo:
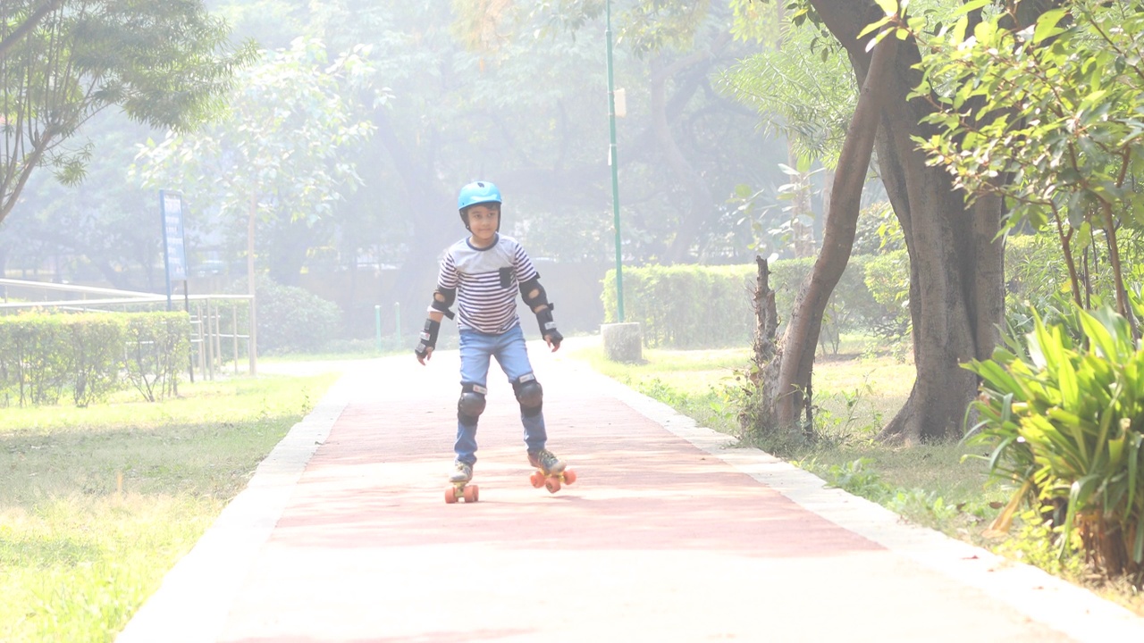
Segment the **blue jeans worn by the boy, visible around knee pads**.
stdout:
[[[524,375],[532,373],[532,364],[529,362],[529,350],[524,346],[524,332],[517,324],[499,335],[490,335],[477,331],[460,331],[461,347],[461,386],[476,384],[482,388],[488,381],[488,358],[495,357],[508,381],[516,383]],[[529,451],[538,451],[545,447],[548,442],[548,434],[545,431],[545,415],[537,413],[525,415],[521,413],[521,423],[524,424],[524,444]],[[461,421],[460,414],[456,420],[456,444],[453,445],[456,459],[470,466],[477,461],[477,423],[471,426]]]

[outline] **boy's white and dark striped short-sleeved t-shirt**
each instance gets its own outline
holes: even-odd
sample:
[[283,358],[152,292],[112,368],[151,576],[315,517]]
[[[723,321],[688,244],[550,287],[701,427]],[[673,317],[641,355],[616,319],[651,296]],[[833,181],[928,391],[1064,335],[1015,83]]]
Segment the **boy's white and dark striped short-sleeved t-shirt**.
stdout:
[[456,327],[500,334],[515,326],[519,284],[535,278],[524,247],[496,235],[493,245],[475,248],[464,238],[445,251],[437,286],[456,288]]

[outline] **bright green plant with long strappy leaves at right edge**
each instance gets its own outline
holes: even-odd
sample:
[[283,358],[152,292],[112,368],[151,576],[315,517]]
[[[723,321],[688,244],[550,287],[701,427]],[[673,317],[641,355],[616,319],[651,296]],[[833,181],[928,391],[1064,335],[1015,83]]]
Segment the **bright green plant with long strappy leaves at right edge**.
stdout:
[[[1060,325],[1035,328],[1024,352],[999,348],[966,367],[982,378],[967,440],[986,445],[991,473],[1017,486],[995,527],[1022,501],[1074,532],[1109,575],[1144,579],[1144,349],[1128,322],[1075,308],[1083,343]],[[1075,331],[1074,331],[1075,332]]]

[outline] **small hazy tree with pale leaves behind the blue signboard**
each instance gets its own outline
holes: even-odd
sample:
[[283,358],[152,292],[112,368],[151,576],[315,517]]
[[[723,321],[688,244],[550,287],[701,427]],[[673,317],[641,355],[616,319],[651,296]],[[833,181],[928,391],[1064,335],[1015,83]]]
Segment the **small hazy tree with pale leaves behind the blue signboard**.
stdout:
[[[261,64],[239,72],[216,122],[143,146],[144,184],[181,189],[198,208],[216,209],[230,239],[245,238],[240,230],[256,199],[270,276],[295,284],[308,252],[333,232],[333,205],[360,183],[341,154],[373,132],[343,97],[353,94],[345,87],[372,88],[364,53],[359,47],[331,62],[325,45],[303,38],[288,50],[263,53]],[[374,98],[381,104],[387,95]]]

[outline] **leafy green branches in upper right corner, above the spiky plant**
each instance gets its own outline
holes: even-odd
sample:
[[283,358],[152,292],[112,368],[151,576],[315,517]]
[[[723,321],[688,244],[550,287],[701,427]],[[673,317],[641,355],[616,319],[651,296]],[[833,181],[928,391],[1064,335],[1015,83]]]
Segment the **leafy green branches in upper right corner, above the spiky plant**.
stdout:
[[[967,5],[962,11],[979,9]],[[1022,3],[969,16],[924,41],[915,96],[938,111],[937,130],[917,138],[928,162],[944,167],[970,200],[1007,199],[1004,223],[1051,227],[1081,295],[1072,243],[1087,248],[1103,237],[1117,307],[1129,307],[1118,230],[1144,224],[1144,8],[1134,2],[1079,0],[1025,22]],[[906,29],[899,25],[898,29]]]

